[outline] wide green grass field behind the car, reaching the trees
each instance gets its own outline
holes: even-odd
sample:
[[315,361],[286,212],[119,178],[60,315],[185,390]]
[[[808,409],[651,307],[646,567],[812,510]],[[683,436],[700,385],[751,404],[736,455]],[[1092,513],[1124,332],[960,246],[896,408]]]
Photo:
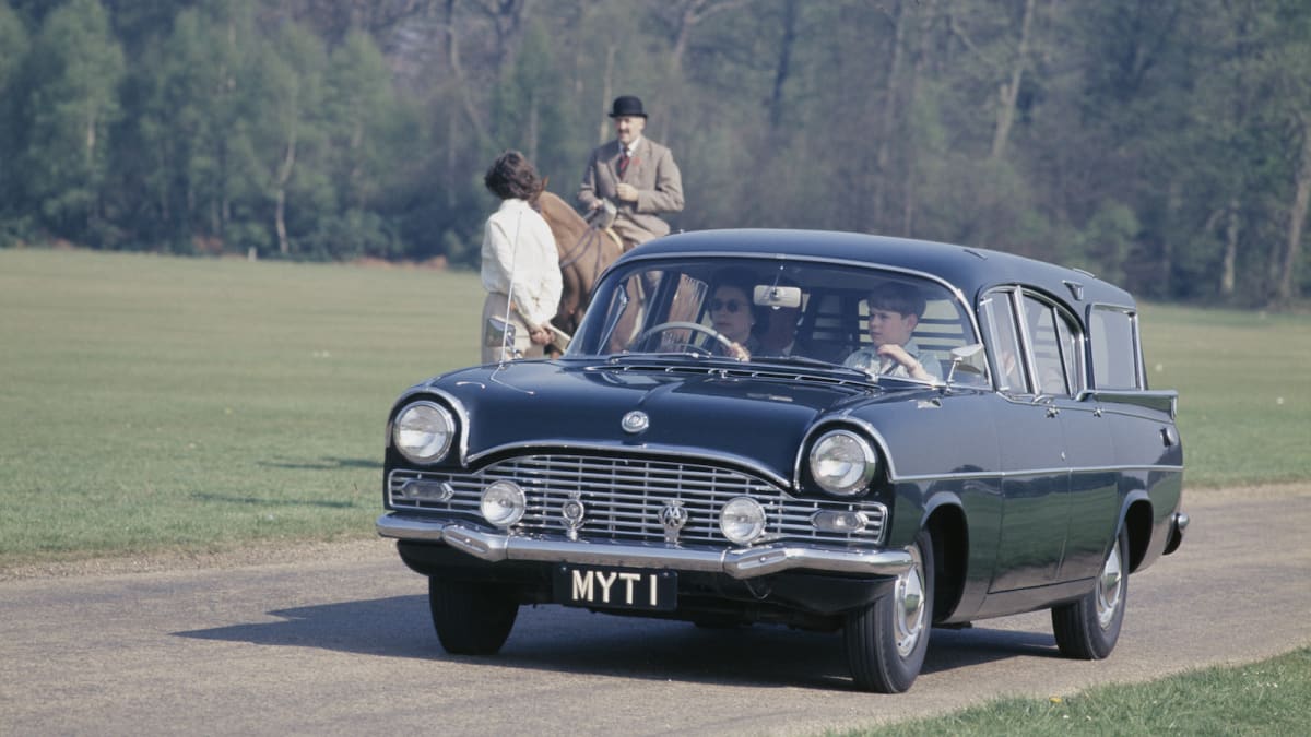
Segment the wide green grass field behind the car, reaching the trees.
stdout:
[[[477,359],[476,274],[0,250],[0,569],[374,535],[387,409]],[[1186,484],[1307,479],[1311,320],[1147,306]]]

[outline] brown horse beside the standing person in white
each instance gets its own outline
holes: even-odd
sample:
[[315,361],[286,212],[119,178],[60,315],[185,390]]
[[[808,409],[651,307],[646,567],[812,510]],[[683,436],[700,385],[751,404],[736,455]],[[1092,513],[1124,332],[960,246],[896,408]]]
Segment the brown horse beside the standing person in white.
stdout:
[[538,209],[551,227],[560,253],[562,290],[560,307],[551,323],[573,336],[587,311],[597,277],[619,258],[623,247],[610,228],[589,223],[556,194],[543,191],[538,195]]

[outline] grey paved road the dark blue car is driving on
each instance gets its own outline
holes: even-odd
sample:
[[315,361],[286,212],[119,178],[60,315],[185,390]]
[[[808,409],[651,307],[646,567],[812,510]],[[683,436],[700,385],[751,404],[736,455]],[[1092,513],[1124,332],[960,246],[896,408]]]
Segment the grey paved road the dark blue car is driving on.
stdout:
[[526,608],[497,658],[447,656],[391,546],[290,564],[0,582],[0,734],[814,734],[1238,662],[1311,643],[1311,487],[1190,493],[1184,547],[1130,580],[1110,660],[1032,614],[935,631],[899,696],[840,639]]

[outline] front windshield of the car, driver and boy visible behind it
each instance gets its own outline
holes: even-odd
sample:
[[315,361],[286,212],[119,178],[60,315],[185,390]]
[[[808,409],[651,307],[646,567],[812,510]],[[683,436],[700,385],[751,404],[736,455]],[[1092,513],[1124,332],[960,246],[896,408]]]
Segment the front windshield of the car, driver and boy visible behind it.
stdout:
[[940,382],[952,349],[975,342],[961,300],[928,278],[720,256],[638,260],[612,271],[568,355],[792,363]]

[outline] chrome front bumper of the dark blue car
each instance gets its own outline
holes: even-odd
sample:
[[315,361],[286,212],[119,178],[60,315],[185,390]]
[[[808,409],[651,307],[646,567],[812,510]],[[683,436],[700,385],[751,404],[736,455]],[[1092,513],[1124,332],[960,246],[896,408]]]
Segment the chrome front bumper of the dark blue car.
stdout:
[[826,573],[901,576],[910,570],[912,564],[910,552],[901,548],[842,551],[780,543],[720,551],[608,540],[523,538],[485,532],[459,522],[440,522],[396,513],[378,518],[378,534],[397,540],[444,543],[490,563],[528,560],[621,568],[670,568],[674,570],[726,573],[734,578],[755,578],[796,568]]

